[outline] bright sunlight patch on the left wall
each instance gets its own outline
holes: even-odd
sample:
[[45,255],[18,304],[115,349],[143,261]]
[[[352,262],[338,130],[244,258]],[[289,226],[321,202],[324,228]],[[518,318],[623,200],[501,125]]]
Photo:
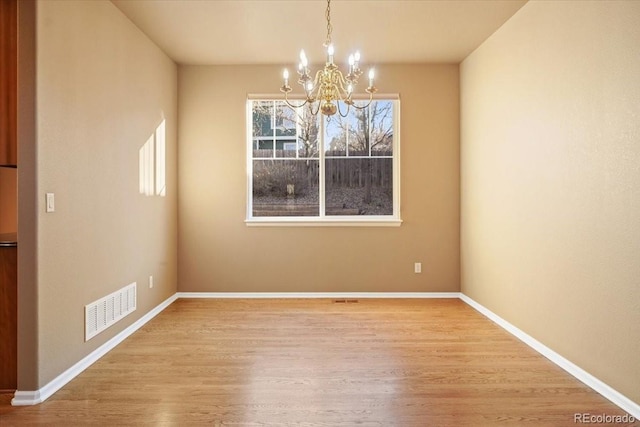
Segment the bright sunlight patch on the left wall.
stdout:
[[147,142],[140,148],[139,172],[140,194],[161,196],[167,194],[165,121],[156,128]]

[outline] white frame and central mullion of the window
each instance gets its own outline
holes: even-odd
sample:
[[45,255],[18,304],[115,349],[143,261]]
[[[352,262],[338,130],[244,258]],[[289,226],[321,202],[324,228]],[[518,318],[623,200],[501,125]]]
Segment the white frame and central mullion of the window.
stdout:
[[[289,97],[293,102],[301,102],[302,99]],[[368,98],[358,98],[354,96],[354,100],[366,100]],[[398,227],[402,224],[400,217],[400,96],[398,94],[376,94],[373,100],[392,101],[393,102],[393,157],[392,157],[392,215],[326,215],[325,209],[325,165],[326,161],[324,136],[325,127],[324,120],[319,124],[319,141],[318,141],[318,163],[319,163],[319,204],[320,212],[318,216],[272,216],[272,217],[254,217],[253,216],[253,101],[284,101],[281,94],[249,94],[246,100],[246,177],[247,177],[247,193],[246,193],[246,217],[245,224],[247,226],[296,226],[296,227],[323,227],[323,226],[346,226],[346,227]],[[330,156],[331,157],[331,156]],[[348,158],[348,157],[347,157]],[[374,157],[375,158],[375,157]],[[283,158],[282,160],[285,160]]]

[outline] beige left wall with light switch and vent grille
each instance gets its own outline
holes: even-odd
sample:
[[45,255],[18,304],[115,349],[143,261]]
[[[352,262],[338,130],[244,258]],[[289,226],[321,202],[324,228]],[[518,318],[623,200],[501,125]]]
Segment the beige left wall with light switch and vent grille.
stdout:
[[[19,308],[32,316],[21,314],[19,351],[21,360],[37,358],[20,364],[24,391],[44,386],[177,286],[176,65],[108,1],[39,1],[35,21],[36,138],[20,141],[20,227],[29,241],[19,251],[22,261],[35,260],[37,275],[19,278]],[[162,120],[168,195],[145,197],[138,150]],[[44,212],[45,192],[56,195],[54,213]],[[134,281],[137,311],[85,343],[84,305]]]

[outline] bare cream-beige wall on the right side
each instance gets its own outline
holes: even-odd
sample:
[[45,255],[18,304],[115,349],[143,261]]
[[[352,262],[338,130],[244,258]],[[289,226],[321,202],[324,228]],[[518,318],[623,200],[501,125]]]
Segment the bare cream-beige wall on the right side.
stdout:
[[462,291],[640,403],[640,2],[529,2],[461,67]]

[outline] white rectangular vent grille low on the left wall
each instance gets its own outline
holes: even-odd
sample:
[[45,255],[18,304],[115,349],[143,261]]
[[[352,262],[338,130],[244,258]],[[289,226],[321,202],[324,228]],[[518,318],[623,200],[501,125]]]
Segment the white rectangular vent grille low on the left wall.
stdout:
[[84,340],[89,341],[136,310],[136,282],[84,306]]

